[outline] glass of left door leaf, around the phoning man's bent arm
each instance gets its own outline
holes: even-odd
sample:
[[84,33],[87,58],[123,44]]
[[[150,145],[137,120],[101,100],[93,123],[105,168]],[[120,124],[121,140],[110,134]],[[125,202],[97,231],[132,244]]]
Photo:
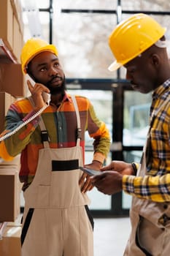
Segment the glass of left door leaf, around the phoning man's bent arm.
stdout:
[[[112,137],[112,92],[111,91],[93,91],[93,90],[68,90],[70,94],[79,94],[90,99],[98,118],[104,121],[109,128]],[[93,160],[93,139],[89,137],[88,132],[85,136],[85,164]],[[106,164],[111,162],[112,156],[109,154]],[[90,197],[90,209],[92,210],[110,210],[111,196],[98,192],[96,188],[88,192]]]

